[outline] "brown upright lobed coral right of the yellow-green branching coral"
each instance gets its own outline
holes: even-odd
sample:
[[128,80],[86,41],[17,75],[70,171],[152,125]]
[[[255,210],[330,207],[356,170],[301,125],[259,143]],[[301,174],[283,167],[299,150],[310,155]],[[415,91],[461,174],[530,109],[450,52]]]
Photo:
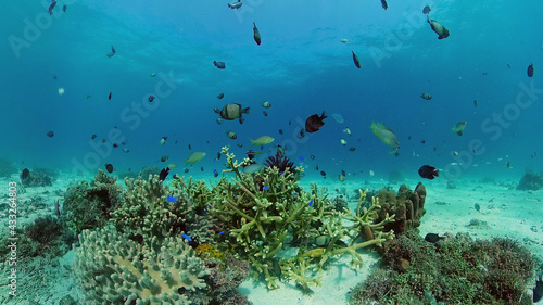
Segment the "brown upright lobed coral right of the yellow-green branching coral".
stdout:
[[377,221],[386,219],[387,215],[394,215],[394,221],[384,225],[384,231],[394,231],[396,237],[407,229],[420,226],[420,218],[425,215],[426,188],[419,182],[414,191],[402,185],[397,194],[382,189],[377,193],[381,209]]

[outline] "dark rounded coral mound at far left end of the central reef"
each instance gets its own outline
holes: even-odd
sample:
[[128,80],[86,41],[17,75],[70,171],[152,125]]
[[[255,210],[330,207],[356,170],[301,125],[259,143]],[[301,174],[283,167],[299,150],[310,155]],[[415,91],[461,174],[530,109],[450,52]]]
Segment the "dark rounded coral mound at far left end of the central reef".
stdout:
[[85,229],[103,227],[122,202],[123,188],[116,183],[116,179],[98,170],[90,185],[81,181],[66,190],[62,217],[70,228],[80,233]]

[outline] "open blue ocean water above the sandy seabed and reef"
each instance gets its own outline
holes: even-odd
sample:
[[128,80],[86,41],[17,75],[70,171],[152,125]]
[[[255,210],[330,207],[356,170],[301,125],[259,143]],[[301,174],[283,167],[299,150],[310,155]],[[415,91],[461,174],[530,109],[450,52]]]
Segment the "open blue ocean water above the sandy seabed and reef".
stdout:
[[[49,4],[9,2],[1,13],[2,154],[17,164],[96,173],[111,163],[126,171],[164,166],[159,160],[168,155],[181,173],[190,143],[207,153],[191,173],[211,176],[224,168],[213,161],[223,145],[241,156],[250,138],[267,135],[296,164],[305,158],[307,178],[321,179],[315,165],[334,177],[341,169],[417,177],[422,164],[451,163],[462,165],[450,168],[454,178],[520,177],[543,152],[542,91],[526,89],[543,87],[538,1],[401,1],[383,10],[379,1],[253,0],[231,10],[220,1],[71,0],[59,1],[51,16]],[[421,12],[427,4],[449,38],[437,39]],[[116,53],[108,58],[111,46]],[[422,100],[424,92],[433,99]],[[273,104],[267,117],[263,101]],[[231,102],[250,106],[250,114],[242,125],[218,125],[213,109]],[[298,139],[305,118],[323,111],[325,126]],[[451,128],[462,120],[468,123],[458,137]],[[397,135],[397,156],[371,134],[371,122]],[[112,148],[121,142],[109,139],[112,130],[126,145]],[[226,137],[228,130],[238,138]]]

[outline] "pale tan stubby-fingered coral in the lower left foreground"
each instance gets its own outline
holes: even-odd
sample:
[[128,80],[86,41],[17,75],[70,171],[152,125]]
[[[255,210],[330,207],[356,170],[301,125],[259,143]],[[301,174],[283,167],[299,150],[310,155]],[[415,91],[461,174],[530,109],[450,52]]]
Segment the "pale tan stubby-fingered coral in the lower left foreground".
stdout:
[[85,230],[79,242],[75,266],[86,304],[188,305],[185,291],[206,288],[210,270],[182,239],[155,241],[160,247],[154,250],[108,226]]

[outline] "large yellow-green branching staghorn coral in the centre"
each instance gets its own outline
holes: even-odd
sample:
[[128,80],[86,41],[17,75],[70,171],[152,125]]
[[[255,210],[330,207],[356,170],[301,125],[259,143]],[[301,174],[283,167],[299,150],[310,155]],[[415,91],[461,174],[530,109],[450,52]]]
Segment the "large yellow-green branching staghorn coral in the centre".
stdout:
[[[242,174],[244,160],[238,163],[235,155],[223,148],[227,157],[228,171],[236,179],[223,177],[212,190],[209,213],[228,229],[226,246],[251,262],[255,276],[263,275],[269,289],[277,288],[280,276],[294,279],[304,290],[319,284],[324,264],[333,256],[350,254],[352,267],[362,266],[357,250],[392,239],[393,233],[382,233],[384,224],[393,221],[388,217],[375,224],[378,202],[362,209],[365,193],[361,192],[358,211],[336,212],[323,192],[312,185],[311,191],[298,186],[298,176],[291,171],[279,173],[276,167],[262,169],[253,175]],[[295,173],[302,173],[296,168]],[[343,219],[354,225],[344,227]],[[357,242],[364,228],[372,228],[375,236]],[[317,247],[302,246],[294,257],[277,259],[276,255],[286,246],[287,238],[294,241],[313,238]],[[348,240],[349,244],[340,242]]]

